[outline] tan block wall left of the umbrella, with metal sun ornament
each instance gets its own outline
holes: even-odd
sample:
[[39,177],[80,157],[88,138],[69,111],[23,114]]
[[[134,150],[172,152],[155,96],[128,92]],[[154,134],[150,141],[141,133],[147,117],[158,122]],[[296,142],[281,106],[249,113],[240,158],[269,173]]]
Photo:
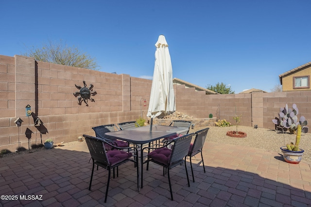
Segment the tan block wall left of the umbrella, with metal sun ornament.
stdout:
[[[88,106],[78,105],[73,95],[79,92],[75,84],[84,87],[84,80],[97,93]],[[147,113],[142,98],[149,101],[151,83],[126,74],[0,55],[0,150],[28,149],[27,137],[30,146],[48,138],[55,144],[71,142],[83,134],[95,135],[94,126],[136,120]],[[27,105],[32,111],[29,117]],[[14,123],[17,117],[23,120],[21,127]],[[42,122],[39,127],[34,125],[37,118]]]

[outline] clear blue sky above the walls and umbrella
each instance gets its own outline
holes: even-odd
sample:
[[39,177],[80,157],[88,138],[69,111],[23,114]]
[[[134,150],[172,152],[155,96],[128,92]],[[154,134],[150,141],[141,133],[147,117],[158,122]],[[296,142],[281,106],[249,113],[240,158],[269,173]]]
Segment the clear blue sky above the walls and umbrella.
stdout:
[[174,78],[270,92],[278,75],[311,62],[310,8],[311,0],[1,0],[0,55],[62,39],[101,71],[152,79],[164,34]]

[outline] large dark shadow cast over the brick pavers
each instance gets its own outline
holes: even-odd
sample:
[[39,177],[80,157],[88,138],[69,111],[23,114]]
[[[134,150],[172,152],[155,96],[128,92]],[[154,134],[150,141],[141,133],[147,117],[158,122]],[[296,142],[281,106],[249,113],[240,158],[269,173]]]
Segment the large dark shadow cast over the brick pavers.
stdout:
[[[280,159],[277,157],[276,159]],[[206,173],[199,164],[193,164],[195,182],[192,182],[190,163],[187,162],[190,187],[184,166],[171,171],[174,201],[170,200],[167,176],[157,165],[144,169],[144,187],[137,191],[136,169],[132,162],[119,167],[119,177],[111,178],[107,203],[104,193],[107,171],[94,171],[91,191],[88,190],[91,162],[88,152],[61,149],[43,150],[12,158],[1,159],[0,182],[4,195],[42,194],[42,200],[17,200],[15,205],[48,203],[54,205],[119,206],[124,205],[167,205],[176,202],[187,206],[308,206],[311,192],[261,177],[260,175],[206,165]],[[23,174],[23,176],[21,176]],[[27,179],[28,181],[22,181]],[[16,183],[11,185],[8,183]],[[36,186],[35,190],[33,187]],[[309,186],[310,187],[310,186]],[[309,188],[310,189],[310,188]],[[64,194],[66,198],[58,199]],[[87,199],[84,199],[87,198]],[[139,198],[139,199],[138,199]],[[0,200],[3,206],[12,201]],[[51,203],[52,202],[52,203]],[[67,203],[66,203],[67,202]],[[159,203],[160,202],[160,203]]]

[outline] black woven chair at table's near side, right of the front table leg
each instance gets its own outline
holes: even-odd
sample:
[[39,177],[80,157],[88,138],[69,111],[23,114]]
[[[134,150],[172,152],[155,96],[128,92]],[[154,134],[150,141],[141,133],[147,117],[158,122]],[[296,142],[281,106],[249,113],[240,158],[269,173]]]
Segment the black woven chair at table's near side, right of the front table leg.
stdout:
[[[173,201],[173,192],[172,192],[172,184],[171,184],[171,178],[170,178],[170,170],[176,167],[177,165],[182,164],[183,162],[185,163],[188,186],[190,187],[189,176],[188,176],[187,165],[186,165],[186,156],[189,151],[189,146],[190,146],[193,134],[194,133],[175,138],[170,143],[167,143],[166,145],[158,147],[158,148],[154,148],[154,147],[143,148],[143,149],[148,149],[148,150],[153,149],[153,151],[148,153],[148,156],[147,156],[147,160],[146,160],[147,170],[149,168],[149,162],[154,162],[155,164],[163,166],[163,176],[165,175],[164,171],[167,170],[172,201]],[[171,143],[174,144],[173,149],[169,149],[167,147]],[[141,169],[141,178],[142,177],[143,177],[143,169]],[[141,181],[141,188],[142,187],[143,185]]]

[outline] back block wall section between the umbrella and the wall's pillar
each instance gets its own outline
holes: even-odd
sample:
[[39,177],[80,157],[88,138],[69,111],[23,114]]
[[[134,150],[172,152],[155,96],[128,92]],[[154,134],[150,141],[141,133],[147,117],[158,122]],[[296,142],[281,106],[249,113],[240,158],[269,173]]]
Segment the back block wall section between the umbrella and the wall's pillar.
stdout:
[[252,126],[251,123],[251,95],[226,94],[205,95],[203,91],[194,88],[185,88],[184,85],[175,85],[176,109],[195,118],[207,118],[209,114],[217,119],[234,122],[233,116],[241,116],[240,125]]

